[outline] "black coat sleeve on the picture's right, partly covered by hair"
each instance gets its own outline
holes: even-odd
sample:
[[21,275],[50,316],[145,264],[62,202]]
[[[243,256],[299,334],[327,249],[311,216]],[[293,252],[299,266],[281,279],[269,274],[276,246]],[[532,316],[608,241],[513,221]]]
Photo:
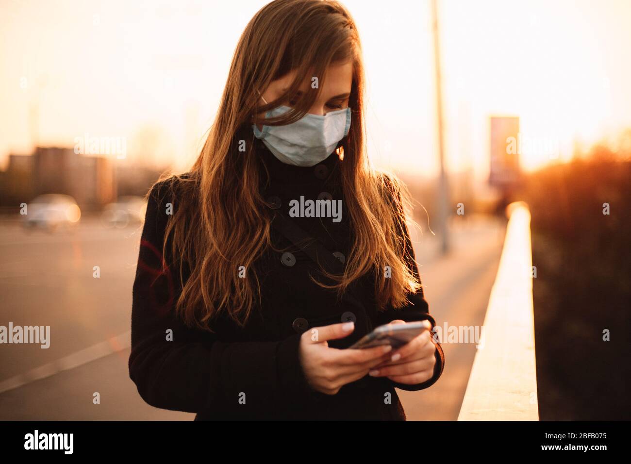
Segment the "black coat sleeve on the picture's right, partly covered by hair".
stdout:
[[[388,182],[389,178],[386,177],[386,182]],[[392,182],[389,182],[390,185],[393,185]],[[418,265],[416,264],[416,256],[414,253],[414,247],[412,246],[412,242],[410,239],[410,231],[408,230],[408,225],[405,222],[405,215],[403,208],[401,208],[401,193],[400,191],[396,191],[397,199],[394,201],[394,211],[395,217],[398,224],[399,234],[401,236],[401,240],[403,242],[403,255],[408,265],[408,268],[413,273],[413,275],[418,279],[418,282],[421,282],[420,274],[418,272]],[[408,295],[408,304],[401,308],[394,309],[392,307],[388,307],[385,311],[380,311],[377,313],[377,323],[388,324],[396,319],[401,319],[406,322],[414,322],[414,321],[424,321],[428,320],[432,324],[432,343],[436,347],[435,357],[436,364],[434,365],[434,371],[432,378],[427,381],[419,384],[403,384],[398,382],[392,382],[396,388],[400,388],[401,390],[407,391],[417,391],[423,390],[432,386],[442,375],[442,371],[445,367],[445,355],[442,351],[442,347],[437,339],[437,336],[434,336],[434,327],[436,326],[436,321],[429,313],[429,305],[427,300],[425,300],[425,295],[423,294],[423,287],[421,287],[417,292],[411,293]]]

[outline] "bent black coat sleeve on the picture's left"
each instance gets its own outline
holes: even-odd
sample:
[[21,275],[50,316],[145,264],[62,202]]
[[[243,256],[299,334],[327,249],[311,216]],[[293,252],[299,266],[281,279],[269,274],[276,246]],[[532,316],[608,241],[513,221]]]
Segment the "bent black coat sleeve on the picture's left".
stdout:
[[133,286],[129,376],[140,396],[152,406],[185,412],[241,408],[246,398],[242,410],[262,411],[310,392],[300,334],[280,342],[224,342],[176,316],[180,273],[162,256],[167,203],[174,211],[178,206],[168,182],[174,178],[150,191]]

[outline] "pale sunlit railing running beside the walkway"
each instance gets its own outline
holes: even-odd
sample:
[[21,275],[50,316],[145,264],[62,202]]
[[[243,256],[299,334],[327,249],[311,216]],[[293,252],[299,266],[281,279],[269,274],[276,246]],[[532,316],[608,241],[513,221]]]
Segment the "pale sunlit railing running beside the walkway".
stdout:
[[530,212],[511,203],[497,277],[458,420],[539,420]]

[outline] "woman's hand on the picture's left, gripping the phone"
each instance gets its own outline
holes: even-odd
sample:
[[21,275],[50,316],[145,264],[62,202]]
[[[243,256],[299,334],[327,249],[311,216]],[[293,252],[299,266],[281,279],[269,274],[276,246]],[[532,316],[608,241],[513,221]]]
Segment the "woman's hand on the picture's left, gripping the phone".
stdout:
[[335,395],[345,384],[368,374],[372,367],[388,359],[390,345],[361,350],[338,350],[329,347],[327,340],[350,335],[355,330],[352,322],[314,327],[300,337],[300,364],[307,382],[316,391]]

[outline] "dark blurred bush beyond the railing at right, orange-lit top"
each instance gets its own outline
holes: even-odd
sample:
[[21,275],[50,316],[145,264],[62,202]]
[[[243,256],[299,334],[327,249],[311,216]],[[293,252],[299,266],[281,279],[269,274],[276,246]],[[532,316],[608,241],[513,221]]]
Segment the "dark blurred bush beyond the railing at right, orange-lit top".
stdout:
[[631,419],[628,159],[596,146],[526,182],[542,420]]

